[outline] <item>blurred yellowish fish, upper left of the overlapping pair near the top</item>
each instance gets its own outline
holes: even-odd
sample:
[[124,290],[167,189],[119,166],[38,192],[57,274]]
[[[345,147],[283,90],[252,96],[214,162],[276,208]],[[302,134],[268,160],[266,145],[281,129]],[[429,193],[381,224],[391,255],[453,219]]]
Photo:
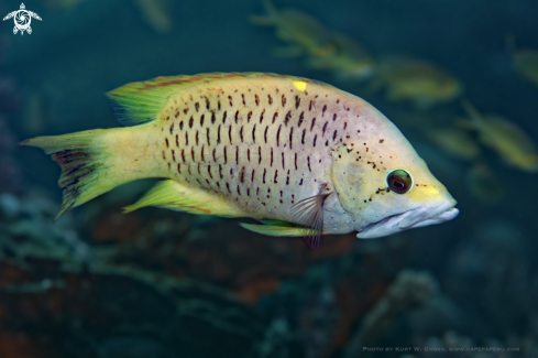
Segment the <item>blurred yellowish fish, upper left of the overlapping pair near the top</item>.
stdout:
[[276,9],[270,0],[263,4],[267,17],[251,15],[249,19],[257,25],[276,28],[276,36],[290,44],[275,53],[279,56],[296,56],[307,53],[314,56],[327,56],[336,51],[331,33],[315,18],[294,9]]

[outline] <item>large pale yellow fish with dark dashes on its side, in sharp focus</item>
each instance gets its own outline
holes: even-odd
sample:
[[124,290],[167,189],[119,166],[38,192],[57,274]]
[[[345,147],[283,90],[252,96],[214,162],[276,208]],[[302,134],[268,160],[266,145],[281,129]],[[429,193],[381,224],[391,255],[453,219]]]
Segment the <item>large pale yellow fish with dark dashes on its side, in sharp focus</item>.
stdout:
[[108,94],[127,128],[40,137],[62,166],[62,210],[161,177],[144,206],[251,217],[271,236],[377,238],[458,215],[398,129],[332,86],[274,74],[158,77]]

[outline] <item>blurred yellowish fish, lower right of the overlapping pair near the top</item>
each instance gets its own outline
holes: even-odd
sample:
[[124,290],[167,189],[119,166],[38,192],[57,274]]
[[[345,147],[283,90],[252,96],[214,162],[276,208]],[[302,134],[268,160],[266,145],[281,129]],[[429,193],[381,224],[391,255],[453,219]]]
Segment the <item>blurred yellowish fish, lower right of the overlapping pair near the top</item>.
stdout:
[[364,80],[374,74],[374,61],[353,39],[336,33],[334,53],[308,59],[308,65],[316,69],[333,70],[342,80]]

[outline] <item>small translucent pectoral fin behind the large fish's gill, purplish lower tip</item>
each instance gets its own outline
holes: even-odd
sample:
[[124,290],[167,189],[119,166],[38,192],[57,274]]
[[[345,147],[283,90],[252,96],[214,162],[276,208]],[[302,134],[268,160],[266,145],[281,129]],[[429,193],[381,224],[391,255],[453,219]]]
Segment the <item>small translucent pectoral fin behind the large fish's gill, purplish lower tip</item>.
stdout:
[[307,197],[292,206],[289,214],[295,223],[308,228],[305,241],[312,250],[319,249],[323,232],[323,202],[331,193],[323,193],[323,185],[318,195]]

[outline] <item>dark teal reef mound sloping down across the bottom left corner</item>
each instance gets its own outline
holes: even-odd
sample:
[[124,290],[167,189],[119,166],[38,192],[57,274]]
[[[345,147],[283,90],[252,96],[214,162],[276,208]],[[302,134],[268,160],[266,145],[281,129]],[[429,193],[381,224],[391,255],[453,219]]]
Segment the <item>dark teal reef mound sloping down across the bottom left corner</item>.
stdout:
[[0,340],[2,357],[303,356],[282,323],[224,291],[105,265],[89,272],[33,265],[47,268],[56,284],[0,263],[0,281],[10,274],[12,282],[0,289],[0,337],[20,337]]

